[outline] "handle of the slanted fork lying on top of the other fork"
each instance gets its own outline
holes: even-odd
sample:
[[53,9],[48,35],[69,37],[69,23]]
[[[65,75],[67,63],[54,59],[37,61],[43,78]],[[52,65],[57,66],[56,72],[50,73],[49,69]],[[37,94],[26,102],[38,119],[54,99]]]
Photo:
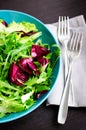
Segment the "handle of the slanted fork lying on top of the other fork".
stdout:
[[71,76],[71,65],[69,66],[69,71],[67,74],[67,80],[64,88],[64,92],[62,95],[61,103],[59,106],[59,112],[58,112],[58,123],[64,124],[67,118],[67,112],[68,112],[68,97],[69,97],[69,88],[70,88],[70,76]]

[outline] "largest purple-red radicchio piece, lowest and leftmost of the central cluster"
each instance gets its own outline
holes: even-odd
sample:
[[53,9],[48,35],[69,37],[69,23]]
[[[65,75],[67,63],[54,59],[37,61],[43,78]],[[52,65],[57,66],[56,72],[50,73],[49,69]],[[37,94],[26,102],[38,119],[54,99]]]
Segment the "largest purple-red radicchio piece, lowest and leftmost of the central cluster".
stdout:
[[9,68],[9,79],[12,83],[22,86],[27,81],[29,75],[25,73],[16,63],[12,63]]

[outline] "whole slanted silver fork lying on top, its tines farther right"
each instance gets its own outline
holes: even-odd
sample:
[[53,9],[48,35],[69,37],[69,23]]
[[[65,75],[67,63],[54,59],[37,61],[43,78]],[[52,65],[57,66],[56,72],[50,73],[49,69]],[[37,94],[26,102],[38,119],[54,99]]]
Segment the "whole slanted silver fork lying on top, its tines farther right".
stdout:
[[67,80],[63,92],[63,96],[61,99],[61,104],[58,112],[58,123],[64,124],[67,118],[67,112],[68,112],[68,97],[69,97],[69,88],[70,88],[70,76],[71,76],[71,69],[72,69],[72,63],[75,58],[77,58],[80,54],[81,50],[81,43],[82,43],[82,34],[80,33],[73,33],[70,41],[67,46],[68,50],[68,57],[69,57],[69,70],[67,74]]

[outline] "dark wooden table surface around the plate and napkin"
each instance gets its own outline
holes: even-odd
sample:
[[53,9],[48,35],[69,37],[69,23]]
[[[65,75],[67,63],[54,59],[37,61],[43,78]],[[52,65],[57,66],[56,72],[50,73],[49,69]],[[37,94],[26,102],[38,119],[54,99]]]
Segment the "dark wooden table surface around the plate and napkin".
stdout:
[[[59,15],[71,18],[83,14],[86,19],[86,0],[0,0],[0,9],[22,11],[44,23],[57,22]],[[0,124],[0,130],[86,130],[86,108],[69,108],[64,125],[56,121],[58,108],[46,107],[44,102],[21,119]]]

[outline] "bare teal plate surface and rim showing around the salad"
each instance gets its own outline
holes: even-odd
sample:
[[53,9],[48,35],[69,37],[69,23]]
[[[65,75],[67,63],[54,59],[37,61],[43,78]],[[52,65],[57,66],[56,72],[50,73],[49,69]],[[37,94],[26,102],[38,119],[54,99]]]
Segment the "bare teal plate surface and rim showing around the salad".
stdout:
[[[53,44],[53,43],[58,44],[56,42],[56,40],[54,39],[53,35],[50,33],[50,31],[44,25],[44,23],[42,23],[40,20],[38,20],[37,18],[35,18],[29,14],[19,12],[19,11],[14,11],[14,10],[0,10],[0,19],[4,19],[7,23],[10,23],[12,21],[15,21],[15,22],[28,21],[28,22],[34,23],[37,26],[37,28],[39,29],[39,31],[42,31],[42,41],[43,42],[48,43],[48,44]],[[52,92],[53,88],[55,87],[54,84],[56,82],[56,79],[58,78],[59,69],[60,69],[60,58],[58,59],[58,62],[56,63],[54,70],[53,70],[54,78],[52,79],[52,85],[51,85],[50,91],[48,93],[44,94],[43,96],[41,96],[41,98],[39,98],[39,100],[37,100],[37,102],[32,107],[30,107],[28,110],[18,112],[18,113],[11,113],[8,116],[1,118],[0,123],[6,123],[9,121],[19,119],[19,118],[29,114],[36,108],[38,108],[48,98],[48,96]]]

